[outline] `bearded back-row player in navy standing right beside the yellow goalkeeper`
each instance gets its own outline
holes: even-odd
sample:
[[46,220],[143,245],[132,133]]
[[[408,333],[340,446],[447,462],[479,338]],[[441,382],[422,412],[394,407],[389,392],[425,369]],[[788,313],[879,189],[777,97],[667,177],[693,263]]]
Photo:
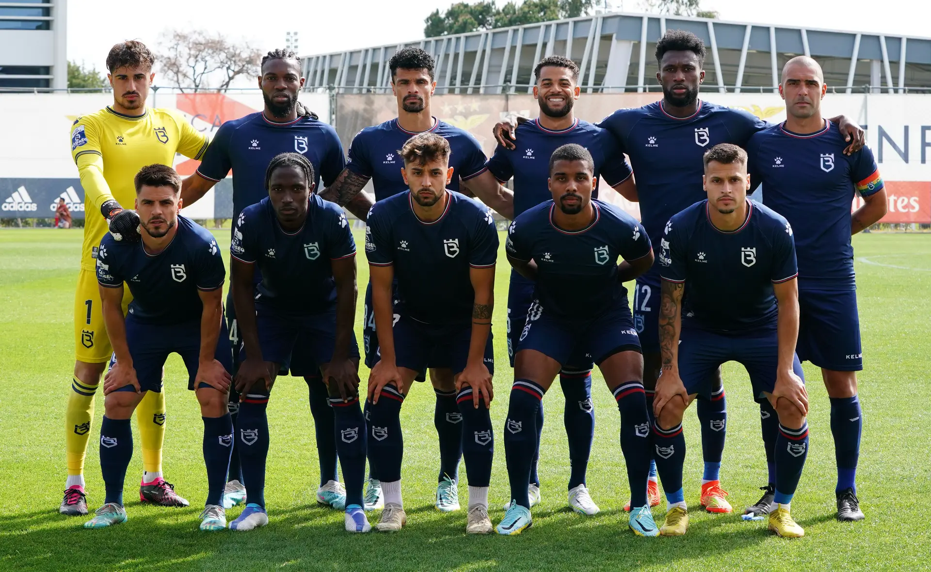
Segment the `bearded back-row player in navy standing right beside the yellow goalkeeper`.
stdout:
[[[213,185],[223,180],[232,168],[233,219],[238,220],[239,213],[247,206],[267,196],[265,169],[279,153],[303,154],[314,166],[315,179],[312,182],[315,184],[322,178],[323,183],[329,185],[343,170],[343,145],[336,136],[336,130],[319,121],[317,115],[308,112],[297,100],[298,92],[304,86],[301,59],[290,50],[268,52],[262,59],[262,75],[258,82],[265,103],[263,111],[227,121],[220,126],[196,173],[184,180],[182,199],[185,205],[191,205],[202,197]],[[235,229],[233,234],[236,240]],[[255,284],[261,280],[262,275],[256,272]],[[233,356],[236,367],[241,336],[236,324],[234,296],[231,287],[226,299],[226,323],[236,348]],[[307,353],[298,352],[293,359],[282,362],[282,365],[287,375],[290,361],[291,375],[304,377],[307,382],[310,412],[317,430],[317,459],[320,464],[317,501],[342,510],[345,491],[336,475],[333,409],[327,404],[327,387],[320,380],[319,366],[309,362],[308,357]],[[239,395],[234,390],[230,392],[230,410],[233,411],[234,423],[238,407]],[[245,500],[237,447],[234,448],[229,483],[223,498],[226,508]]]

